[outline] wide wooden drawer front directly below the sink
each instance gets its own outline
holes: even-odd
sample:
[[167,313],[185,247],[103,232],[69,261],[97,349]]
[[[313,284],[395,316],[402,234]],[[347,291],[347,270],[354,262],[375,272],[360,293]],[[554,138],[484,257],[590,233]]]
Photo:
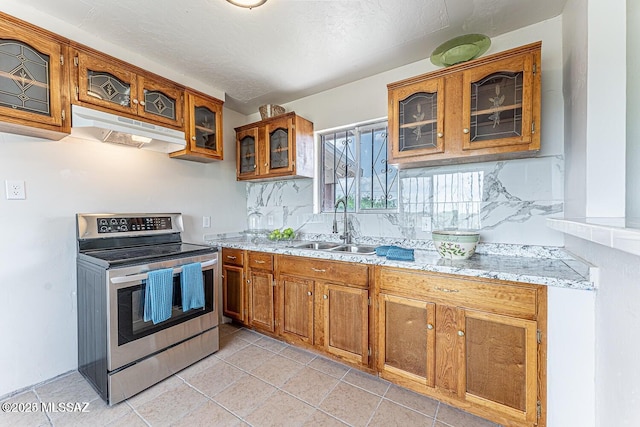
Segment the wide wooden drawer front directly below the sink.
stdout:
[[367,287],[369,282],[368,266],[340,261],[283,256],[278,259],[278,271],[283,274],[361,287]]

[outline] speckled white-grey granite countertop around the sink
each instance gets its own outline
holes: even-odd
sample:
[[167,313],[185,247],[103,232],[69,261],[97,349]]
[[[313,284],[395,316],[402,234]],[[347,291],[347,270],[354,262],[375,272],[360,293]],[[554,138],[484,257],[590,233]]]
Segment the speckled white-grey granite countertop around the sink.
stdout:
[[[331,236],[304,236],[304,241],[332,241]],[[484,277],[513,282],[533,283],[569,289],[594,290],[590,279],[593,266],[573,257],[562,248],[527,245],[482,244],[468,260],[453,261],[441,258],[431,241],[407,241],[393,239],[359,239],[358,244],[393,244],[413,248],[415,261],[392,261],[382,256],[340,253],[326,250],[299,249],[302,241],[270,242],[247,235],[209,235],[205,241],[214,246],[247,249],[304,256],[308,258],[358,262],[371,265],[401,267],[412,270]]]

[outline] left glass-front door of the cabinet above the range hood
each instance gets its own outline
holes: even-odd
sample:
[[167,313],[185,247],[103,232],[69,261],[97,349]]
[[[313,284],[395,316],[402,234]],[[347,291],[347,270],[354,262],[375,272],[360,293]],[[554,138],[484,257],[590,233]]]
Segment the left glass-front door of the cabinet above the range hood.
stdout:
[[76,96],[79,101],[115,111],[137,114],[133,102],[138,92],[136,75],[113,63],[78,51]]

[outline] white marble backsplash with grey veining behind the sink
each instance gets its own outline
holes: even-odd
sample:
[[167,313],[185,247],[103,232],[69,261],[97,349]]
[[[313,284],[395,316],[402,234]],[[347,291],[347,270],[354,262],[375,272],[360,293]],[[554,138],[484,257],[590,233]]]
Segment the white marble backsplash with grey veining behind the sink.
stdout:
[[[447,165],[400,171],[399,209],[349,214],[358,237],[431,239],[432,229],[474,229],[486,243],[562,246],[547,217],[562,217],[562,156]],[[247,214],[266,229],[331,233],[333,212],[314,213],[313,180],[247,183]],[[343,228],[338,214],[338,227]]]

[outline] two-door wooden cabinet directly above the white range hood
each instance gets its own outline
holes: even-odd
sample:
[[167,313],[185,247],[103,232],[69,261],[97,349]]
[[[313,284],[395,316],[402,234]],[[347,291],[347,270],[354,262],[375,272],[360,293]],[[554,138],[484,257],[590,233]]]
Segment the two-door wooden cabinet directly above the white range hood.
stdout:
[[74,48],[73,58],[73,103],[183,129],[182,87],[96,52]]

